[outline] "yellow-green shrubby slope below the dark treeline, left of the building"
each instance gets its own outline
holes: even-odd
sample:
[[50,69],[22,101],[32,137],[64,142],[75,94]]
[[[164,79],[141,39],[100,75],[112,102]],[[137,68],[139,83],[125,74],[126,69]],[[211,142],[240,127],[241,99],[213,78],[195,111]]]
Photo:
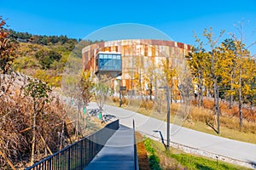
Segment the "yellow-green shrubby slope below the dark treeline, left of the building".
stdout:
[[52,86],[61,85],[61,71],[72,51],[73,44],[42,45],[20,42],[13,68],[36,77]]

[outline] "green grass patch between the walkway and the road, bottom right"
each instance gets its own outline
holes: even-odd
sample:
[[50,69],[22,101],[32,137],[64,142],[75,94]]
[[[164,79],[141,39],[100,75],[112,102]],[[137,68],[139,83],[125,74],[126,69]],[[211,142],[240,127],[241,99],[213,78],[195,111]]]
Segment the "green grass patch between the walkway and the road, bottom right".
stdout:
[[162,143],[152,139],[144,139],[143,144],[147,150],[149,167],[151,169],[249,169],[247,167],[236,166],[224,161],[217,161],[204,156],[187,154],[174,148],[166,150]]

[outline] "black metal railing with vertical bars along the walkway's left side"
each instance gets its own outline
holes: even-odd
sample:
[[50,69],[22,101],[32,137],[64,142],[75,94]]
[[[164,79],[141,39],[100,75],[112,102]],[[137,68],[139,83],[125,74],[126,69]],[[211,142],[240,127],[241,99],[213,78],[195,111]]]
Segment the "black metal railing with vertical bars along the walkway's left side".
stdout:
[[119,120],[111,122],[96,133],[38,161],[32,167],[27,167],[26,170],[84,169],[118,128]]

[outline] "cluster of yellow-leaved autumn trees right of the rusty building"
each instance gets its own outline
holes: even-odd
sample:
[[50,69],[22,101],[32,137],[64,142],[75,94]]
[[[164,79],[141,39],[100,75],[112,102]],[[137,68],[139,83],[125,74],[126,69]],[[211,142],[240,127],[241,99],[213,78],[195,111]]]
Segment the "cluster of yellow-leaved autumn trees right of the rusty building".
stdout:
[[[238,101],[240,126],[242,127],[242,107],[245,103],[255,105],[256,95],[255,59],[243,42],[242,35],[241,38],[233,35],[218,43],[223,34],[224,31],[221,31],[214,39],[212,28],[205,29],[202,34],[205,41],[195,36],[195,42],[198,44],[187,56],[194,82],[199,88],[199,106],[202,106],[202,98],[206,90],[213,95],[213,111],[218,116],[218,133],[221,114],[218,98],[228,100],[230,108],[234,100]],[[205,92],[202,89],[205,89]]]

